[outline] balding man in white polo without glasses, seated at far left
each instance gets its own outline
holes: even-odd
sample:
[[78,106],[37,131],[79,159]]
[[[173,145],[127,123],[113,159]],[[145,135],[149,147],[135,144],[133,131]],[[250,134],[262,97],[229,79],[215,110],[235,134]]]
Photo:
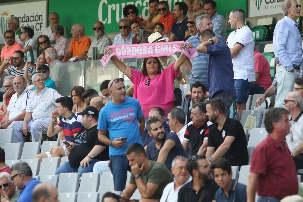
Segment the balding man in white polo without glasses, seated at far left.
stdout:
[[[13,80],[15,94],[12,95],[7,112],[2,119],[0,128],[7,128],[13,121],[22,121],[25,117],[25,108],[31,92],[25,87],[23,76],[16,76]],[[18,137],[16,137],[18,138]],[[17,140],[14,142],[18,142]]]

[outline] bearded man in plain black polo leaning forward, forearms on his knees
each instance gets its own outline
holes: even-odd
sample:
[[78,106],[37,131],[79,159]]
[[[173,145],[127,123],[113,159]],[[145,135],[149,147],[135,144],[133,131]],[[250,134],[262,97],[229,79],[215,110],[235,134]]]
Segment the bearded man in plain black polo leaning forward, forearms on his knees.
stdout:
[[247,142],[240,121],[228,118],[223,101],[217,98],[207,101],[206,111],[209,120],[214,123],[208,132],[208,161],[225,157],[231,166],[247,165]]

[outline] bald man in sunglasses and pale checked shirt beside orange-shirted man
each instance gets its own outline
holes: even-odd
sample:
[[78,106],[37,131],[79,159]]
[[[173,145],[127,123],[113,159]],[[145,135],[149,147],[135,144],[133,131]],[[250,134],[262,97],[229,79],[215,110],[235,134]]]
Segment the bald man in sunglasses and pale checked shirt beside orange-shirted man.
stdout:
[[100,21],[95,22],[93,30],[94,30],[97,38],[95,38],[92,41],[92,44],[89,47],[89,50],[88,50],[88,53],[86,56],[89,60],[92,60],[93,47],[98,48],[97,59],[101,59],[104,55],[104,49],[107,48],[108,46],[112,45],[112,40],[110,38],[108,38],[108,36],[106,36],[106,34],[104,33],[105,28],[104,28],[104,24],[102,22],[100,22]]

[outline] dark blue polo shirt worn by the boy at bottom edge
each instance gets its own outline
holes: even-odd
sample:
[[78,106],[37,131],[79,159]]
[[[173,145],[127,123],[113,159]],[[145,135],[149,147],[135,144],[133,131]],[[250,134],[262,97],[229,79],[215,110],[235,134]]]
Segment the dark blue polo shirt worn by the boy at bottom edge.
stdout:
[[216,201],[220,202],[246,202],[246,185],[232,180],[230,189],[228,191],[228,198],[226,197],[223,188],[219,188],[215,196]]

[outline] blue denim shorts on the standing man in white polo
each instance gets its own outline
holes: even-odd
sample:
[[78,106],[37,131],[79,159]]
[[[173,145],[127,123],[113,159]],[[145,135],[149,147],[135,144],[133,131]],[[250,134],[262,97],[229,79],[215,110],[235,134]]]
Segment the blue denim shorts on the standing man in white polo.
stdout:
[[250,84],[251,82],[248,82],[248,79],[234,79],[234,84],[235,84],[235,89],[237,93],[237,99],[236,102],[242,102],[246,103],[248,96],[249,96],[249,91],[250,91]]

